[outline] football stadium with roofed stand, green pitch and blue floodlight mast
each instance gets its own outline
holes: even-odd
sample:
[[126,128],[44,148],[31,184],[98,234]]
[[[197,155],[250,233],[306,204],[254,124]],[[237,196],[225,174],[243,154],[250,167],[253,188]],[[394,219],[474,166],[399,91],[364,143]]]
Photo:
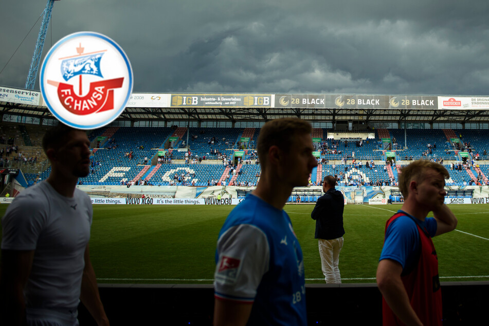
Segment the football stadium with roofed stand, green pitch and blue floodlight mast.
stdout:
[[[2,216],[52,171],[42,139],[62,122],[34,89],[37,51],[25,88],[0,85]],[[420,159],[449,172],[444,201],[458,219],[433,238],[443,324],[485,324],[489,96],[247,92],[132,92],[117,119],[86,130],[89,173],[76,187],[92,202],[90,259],[111,323],[212,325],[218,236],[256,190],[258,137],[280,118],[311,124],[317,161],[309,185],[294,188],[284,207],[302,248],[309,324],[382,323],[376,271],[386,222],[404,203],[402,168]],[[311,218],[329,175],[345,204],[341,284],[325,284]],[[96,324],[83,304],[78,319]]]

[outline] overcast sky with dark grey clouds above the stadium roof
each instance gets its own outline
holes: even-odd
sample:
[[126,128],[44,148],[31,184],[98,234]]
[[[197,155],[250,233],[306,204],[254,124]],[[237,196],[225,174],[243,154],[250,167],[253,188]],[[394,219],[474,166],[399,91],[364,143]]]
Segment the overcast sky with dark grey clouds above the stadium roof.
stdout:
[[[45,6],[0,5],[0,69],[28,35],[0,85],[24,88]],[[61,0],[43,59],[95,31],[128,55],[133,92],[489,95],[488,16],[487,0]]]

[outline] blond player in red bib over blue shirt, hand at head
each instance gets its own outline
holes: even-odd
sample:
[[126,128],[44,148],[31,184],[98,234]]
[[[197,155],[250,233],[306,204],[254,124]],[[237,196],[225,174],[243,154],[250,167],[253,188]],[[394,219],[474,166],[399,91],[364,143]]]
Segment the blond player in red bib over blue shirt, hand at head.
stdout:
[[[448,171],[417,160],[401,170],[404,204],[386,223],[377,267],[384,325],[442,325],[438,257],[431,238],[452,231],[457,218],[444,204]],[[433,218],[427,218],[433,212]]]

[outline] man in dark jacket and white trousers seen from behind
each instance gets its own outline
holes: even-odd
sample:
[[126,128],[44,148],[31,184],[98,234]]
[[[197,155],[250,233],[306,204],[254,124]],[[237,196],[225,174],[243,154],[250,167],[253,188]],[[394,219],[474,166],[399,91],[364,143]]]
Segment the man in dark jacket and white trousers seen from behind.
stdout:
[[343,246],[343,194],[335,189],[336,179],[332,175],[324,177],[322,190],[324,195],[319,197],[311,213],[316,220],[315,239],[319,242],[321,269],[326,283],[341,283],[338,262],[339,252]]

